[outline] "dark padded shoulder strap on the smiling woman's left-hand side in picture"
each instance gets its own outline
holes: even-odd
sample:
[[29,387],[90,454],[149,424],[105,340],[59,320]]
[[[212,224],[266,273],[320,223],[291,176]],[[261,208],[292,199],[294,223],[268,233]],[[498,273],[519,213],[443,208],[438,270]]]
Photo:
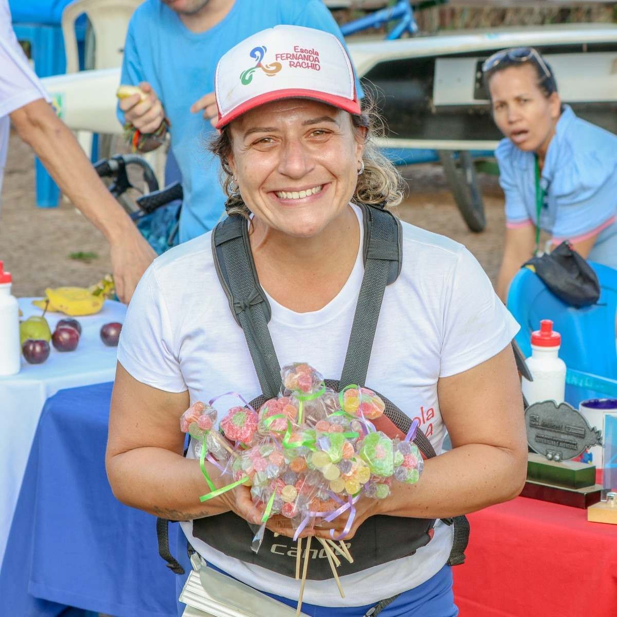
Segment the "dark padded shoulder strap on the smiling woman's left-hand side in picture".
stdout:
[[218,223],[212,233],[212,254],[231,314],[246,337],[262,392],[275,397],[281,389],[281,367],[268,331],[270,304],[257,278],[245,218],[234,215]]

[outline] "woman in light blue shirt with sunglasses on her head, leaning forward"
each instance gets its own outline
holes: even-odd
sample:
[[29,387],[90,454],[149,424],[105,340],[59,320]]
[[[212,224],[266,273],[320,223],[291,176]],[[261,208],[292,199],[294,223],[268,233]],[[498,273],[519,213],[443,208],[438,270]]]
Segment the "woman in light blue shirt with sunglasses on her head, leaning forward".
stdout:
[[561,103],[547,62],[533,48],[506,49],[482,67],[505,193],[506,235],[497,293],[505,301],[521,264],[568,240],[583,257],[617,268],[617,136]]

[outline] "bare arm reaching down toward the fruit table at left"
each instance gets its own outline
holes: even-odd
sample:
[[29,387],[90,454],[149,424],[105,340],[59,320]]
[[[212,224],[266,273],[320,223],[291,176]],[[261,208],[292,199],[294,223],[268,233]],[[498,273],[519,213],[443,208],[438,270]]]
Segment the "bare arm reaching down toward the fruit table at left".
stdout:
[[48,103],[43,99],[28,103],[10,114],[10,119],[60,191],[107,238],[117,294],[128,302],[154,259],[154,251],[107,191],[71,131]]

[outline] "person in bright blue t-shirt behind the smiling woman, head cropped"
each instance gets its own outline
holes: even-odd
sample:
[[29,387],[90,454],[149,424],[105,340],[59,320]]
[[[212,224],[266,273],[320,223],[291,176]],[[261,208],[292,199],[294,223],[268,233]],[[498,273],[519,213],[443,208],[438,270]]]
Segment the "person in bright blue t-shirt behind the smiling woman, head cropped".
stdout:
[[210,119],[217,117],[218,59],[247,36],[278,24],[318,28],[342,41],[321,0],[146,0],[131,19],[121,83],[139,85],[145,97],[122,99],[118,118],[139,130],[133,143],[142,152],[163,143],[168,120],[184,189],[180,242],[212,229],[225,205],[218,161],[206,148]]

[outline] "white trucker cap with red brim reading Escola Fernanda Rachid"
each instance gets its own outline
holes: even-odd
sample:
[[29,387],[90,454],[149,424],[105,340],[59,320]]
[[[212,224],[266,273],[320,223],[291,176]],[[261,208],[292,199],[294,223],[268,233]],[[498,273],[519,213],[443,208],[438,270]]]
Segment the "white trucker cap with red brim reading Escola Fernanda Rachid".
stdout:
[[314,28],[281,25],[244,39],[218,61],[214,89],[217,128],[264,103],[296,97],[360,114],[346,49]]

